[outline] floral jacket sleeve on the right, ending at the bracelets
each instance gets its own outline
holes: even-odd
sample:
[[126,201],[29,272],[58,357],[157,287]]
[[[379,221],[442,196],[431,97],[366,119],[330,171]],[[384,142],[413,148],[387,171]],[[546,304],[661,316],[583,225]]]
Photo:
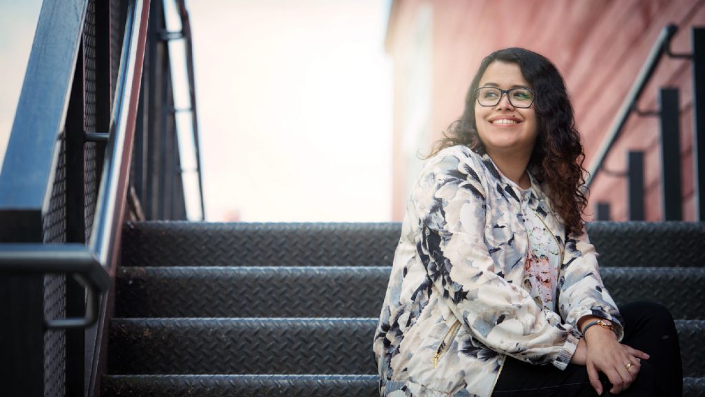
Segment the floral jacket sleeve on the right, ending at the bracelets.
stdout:
[[618,340],[624,336],[623,319],[600,278],[595,247],[587,231],[571,233],[558,280],[558,307],[565,322],[577,328],[582,316],[597,316],[612,321]]

